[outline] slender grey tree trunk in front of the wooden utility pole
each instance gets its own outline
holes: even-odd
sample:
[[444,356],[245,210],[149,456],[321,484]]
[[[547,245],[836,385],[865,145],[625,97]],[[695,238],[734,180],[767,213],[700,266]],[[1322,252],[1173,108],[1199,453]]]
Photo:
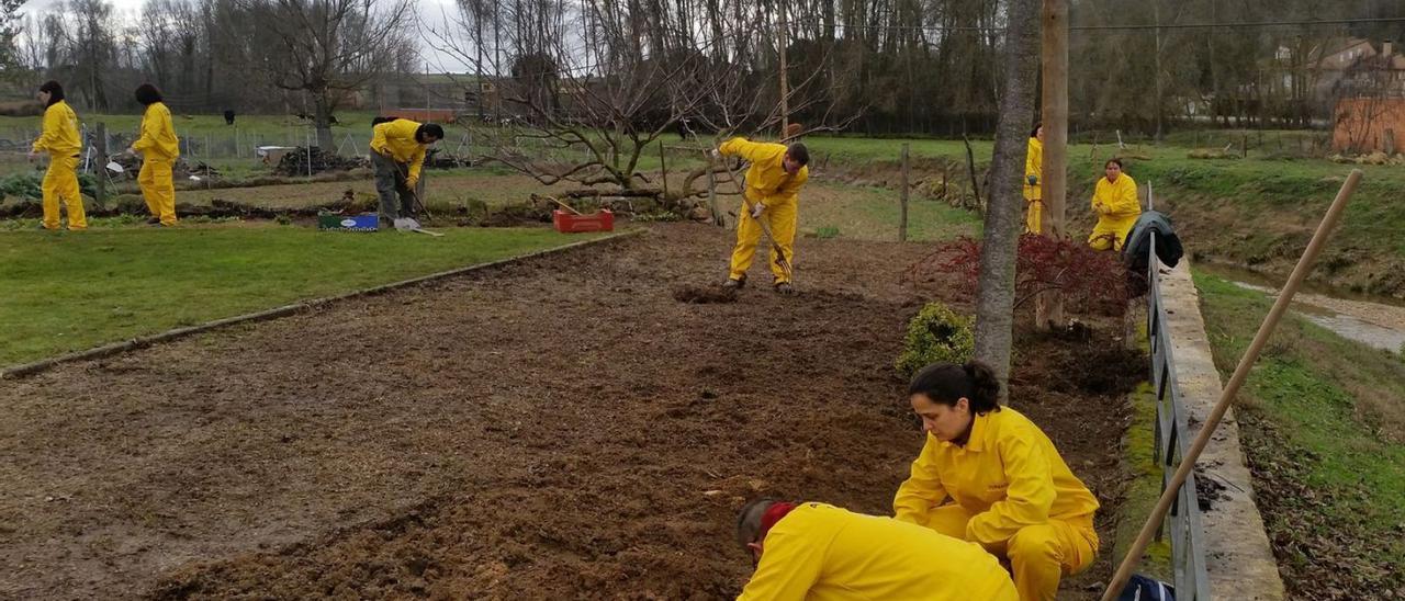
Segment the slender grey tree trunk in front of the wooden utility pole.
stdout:
[[1012,0],[1005,48],[1005,95],[991,160],[989,201],[976,292],[975,358],[1000,379],[1002,396],[1010,381],[1010,345],[1014,338],[1014,256],[1024,206],[1026,136],[1034,115],[1034,67],[1038,65],[1040,0]]

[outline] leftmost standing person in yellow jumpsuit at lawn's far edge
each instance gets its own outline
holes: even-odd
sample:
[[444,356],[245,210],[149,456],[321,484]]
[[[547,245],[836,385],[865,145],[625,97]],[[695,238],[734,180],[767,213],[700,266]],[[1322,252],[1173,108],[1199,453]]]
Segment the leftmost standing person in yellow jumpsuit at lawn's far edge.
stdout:
[[79,139],[79,115],[63,101],[63,86],[45,81],[39,86],[39,103],[44,103],[44,132],[34,140],[30,159],[41,152],[49,153],[49,170],[44,174],[44,223],[48,230],[59,229],[59,199],[69,209],[69,229],[87,229],[87,213],[83,211],[83,192],[79,190],[79,153],[83,142]]

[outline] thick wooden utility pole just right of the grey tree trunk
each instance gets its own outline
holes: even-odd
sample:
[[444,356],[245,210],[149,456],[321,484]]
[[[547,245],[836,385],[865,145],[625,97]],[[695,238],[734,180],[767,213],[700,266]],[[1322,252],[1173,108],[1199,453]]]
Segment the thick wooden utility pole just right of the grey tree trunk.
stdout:
[[[1044,0],[1044,164],[1041,185],[1044,236],[1064,240],[1068,199],[1068,0]],[[1035,300],[1035,322],[1064,323],[1064,295],[1048,291]]]

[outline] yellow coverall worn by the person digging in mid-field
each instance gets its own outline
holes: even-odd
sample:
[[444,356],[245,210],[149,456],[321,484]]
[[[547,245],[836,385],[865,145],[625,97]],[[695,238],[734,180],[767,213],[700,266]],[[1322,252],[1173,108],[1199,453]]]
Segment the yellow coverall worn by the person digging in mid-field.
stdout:
[[[732,138],[718,147],[724,156],[740,156],[752,163],[746,171],[746,190],[742,212],[736,223],[736,247],[732,250],[732,267],[728,275],[732,279],[742,279],[746,270],[752,267],[756,257],[756,244],[762,239],[762,226],[752,219],[752,202],[766,206],[762,219],[766,219],[776,236],[776,244],[785,254],[785,261],[795,265],[795,222],[799,216],[799,188],[809,180],[809,167],[801,167],[794,176],[785,173],[781,161],[785,159],[785,145],[767,142],[749,142],[745,138]],[[776,249],[771,249],[771,274],[776,284],[788,282],[785,270],[776,264]]]

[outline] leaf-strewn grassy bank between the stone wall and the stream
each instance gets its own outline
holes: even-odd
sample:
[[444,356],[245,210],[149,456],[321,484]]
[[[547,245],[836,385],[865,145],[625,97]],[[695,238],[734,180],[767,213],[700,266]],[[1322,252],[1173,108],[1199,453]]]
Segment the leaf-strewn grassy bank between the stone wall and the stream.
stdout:
[[[1222,376],[1270,300],[1197,274]],[[1290,590],[1405,586],[1405,361],[1288,315],[1241,392],[1245,451]],[[1394,579],[1394,584],[1390,584]]]

